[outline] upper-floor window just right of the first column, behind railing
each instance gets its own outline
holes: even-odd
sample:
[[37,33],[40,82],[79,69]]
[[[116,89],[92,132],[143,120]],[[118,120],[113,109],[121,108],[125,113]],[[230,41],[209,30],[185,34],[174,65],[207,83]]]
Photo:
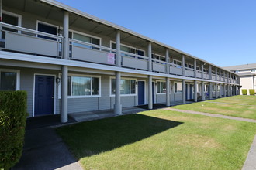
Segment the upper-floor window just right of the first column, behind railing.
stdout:
[[[91,43],[91,44],[94,44],[94,45],[97,45],[97,46],[100,46],[100,42],[101,42],[101,40],[99,38],[84,35],[84,34],[80,34],[80,33],[77,33],[77,32],[73,32],[73,39],[81,41],[81,42]],[[97,47],[88,46],[88,45],[77,43],[77,42],[73,42],[72,44],[74,46],[81,46],[81,47],[85,47],[85,48],[88,48],[88,49],[97,49],[97,50],[99,50],[99,48],[97,48]]]

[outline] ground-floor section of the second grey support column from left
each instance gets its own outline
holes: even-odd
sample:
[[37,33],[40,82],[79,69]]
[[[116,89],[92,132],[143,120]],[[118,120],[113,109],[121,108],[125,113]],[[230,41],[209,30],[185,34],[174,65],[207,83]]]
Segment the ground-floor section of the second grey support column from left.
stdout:
[[115,104],[114,104],[114,114],[115,115],[122,114],[120,82],[121,82],[121,73],[119,71],[116,71],[116,92],[115,92]]

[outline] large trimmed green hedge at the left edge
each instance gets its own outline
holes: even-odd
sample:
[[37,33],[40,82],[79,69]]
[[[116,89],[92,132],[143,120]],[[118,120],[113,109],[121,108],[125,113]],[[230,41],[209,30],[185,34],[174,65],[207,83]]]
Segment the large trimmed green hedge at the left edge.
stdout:
[[19,162],[26,115],[25,91],[0,91],[0,169],[9,169]]

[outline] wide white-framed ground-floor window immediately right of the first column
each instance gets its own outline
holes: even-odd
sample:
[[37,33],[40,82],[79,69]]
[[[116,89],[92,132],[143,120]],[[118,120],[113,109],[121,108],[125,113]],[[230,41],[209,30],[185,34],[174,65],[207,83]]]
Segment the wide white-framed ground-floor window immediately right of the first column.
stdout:
[[72,97],[99,96],[100,78],[92,76],[68,76],[67,95]]

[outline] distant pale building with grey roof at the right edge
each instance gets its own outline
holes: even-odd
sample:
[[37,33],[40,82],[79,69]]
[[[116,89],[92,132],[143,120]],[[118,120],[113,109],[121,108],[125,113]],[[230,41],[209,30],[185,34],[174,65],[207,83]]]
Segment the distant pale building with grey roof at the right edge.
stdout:
[[[239,77],[238,83],[241,86],[240,90],[256,90],[256,63],[243,64],[237,66],[226,66],[223,68],[226,70],[230,70],[233,73],[237,73]],[[241,91],[240,94],[242,95]]]

